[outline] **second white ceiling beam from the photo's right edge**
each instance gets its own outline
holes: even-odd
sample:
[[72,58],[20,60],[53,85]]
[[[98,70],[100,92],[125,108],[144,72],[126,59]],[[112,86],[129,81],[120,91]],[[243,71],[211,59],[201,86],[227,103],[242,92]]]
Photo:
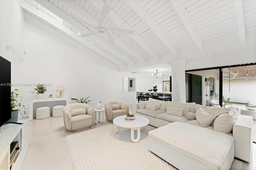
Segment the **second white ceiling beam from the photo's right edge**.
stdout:
[[191,38],[194,40],[196,46],[198,47],[200,52],[203,53],[204,52],[203,42],[202,42],[198,32],[196,31],[196,28],[195,28],[192,20],[188,16],[188,12],[186,11],[186,9],[183,5],[184,1],[182,1],[182,0],[170,0],[170,2],[172,3],[173,8],[175,9],[178,16],[180,17],[182,23],[184,24],[184,26],[188,30],[188,33],[190,34]]

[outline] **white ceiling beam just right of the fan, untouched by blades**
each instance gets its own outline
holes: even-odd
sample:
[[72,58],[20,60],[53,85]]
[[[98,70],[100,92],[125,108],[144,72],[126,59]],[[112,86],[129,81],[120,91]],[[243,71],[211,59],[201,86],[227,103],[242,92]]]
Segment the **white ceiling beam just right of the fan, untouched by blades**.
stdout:
[[133,8],[133,10],[140,16],[140,18],[150,27],[150,29],[160,38],[168,49],[174,54],[179,55],[178,49],[167,38],[162,29],[156,24],[153,18],[144,10],[143,6],[138,1],[126,0],[126,2]]

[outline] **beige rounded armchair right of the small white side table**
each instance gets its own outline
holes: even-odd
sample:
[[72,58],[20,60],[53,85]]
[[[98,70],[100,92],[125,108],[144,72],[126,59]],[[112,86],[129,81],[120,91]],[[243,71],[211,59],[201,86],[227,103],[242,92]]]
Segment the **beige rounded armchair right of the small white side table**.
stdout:
[[129,113],[129,107],[118,100],[108,100],[105,102],[105,115],[108,121],[112,122],[118,116]]

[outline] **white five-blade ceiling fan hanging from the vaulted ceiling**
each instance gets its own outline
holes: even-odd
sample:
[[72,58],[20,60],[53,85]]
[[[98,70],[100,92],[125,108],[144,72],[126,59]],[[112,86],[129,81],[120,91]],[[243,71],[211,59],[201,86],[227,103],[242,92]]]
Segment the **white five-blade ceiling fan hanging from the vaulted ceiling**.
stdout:
[[116,42],[114,41],[114,39],[112,38],[111,34],[109,33],[108,30],[114,30],[114,31],[118,31],[118,32],[124,32],[124,33],[127,33],[127,34],[134,34],[134,30],[126,30],[126,29],[122,29],[122,28],[113,28],[113,27],[107,27],[107,26],[103,26],[103,22],[104,20],[106,19],[106,17],[108,16],[108,13],[110,12],[111,10],[111,7],[108,6],[107,4],[104,4],[103,5],[103,8],[102,8],[102,11],[100,13],[100,18],[98,20],[98,24],[97,26],[94,26],[90,23],[87,23],[86,21],[76,17],[76,16],[73,16],[72,14],[68,13],[68,12],[65,12],[66,14],[68,14],[69,16],[71,16],[72,18],[74,18],[75,20],[78,20],[80,22],[83,22],[89,26],[91,26],[92,28],[96,29],[97,31],[95,32],[91,32],[91,33],[88,33],[88,34],[80,34],[80,36],[82,37],[86,37],[86,36],[90,36],[90,35],[93,35],[93,34],[104,34],[106,33],[110,42],[112,44],[115,44]]

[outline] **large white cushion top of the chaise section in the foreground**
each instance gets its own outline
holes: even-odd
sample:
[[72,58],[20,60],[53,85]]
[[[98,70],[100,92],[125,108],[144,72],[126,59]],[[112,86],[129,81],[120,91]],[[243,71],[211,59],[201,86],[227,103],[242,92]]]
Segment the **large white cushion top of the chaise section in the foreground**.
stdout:
[[234,146],[232,136],[180,122],[151,130],[148,136],[214,170],[222,167]]

